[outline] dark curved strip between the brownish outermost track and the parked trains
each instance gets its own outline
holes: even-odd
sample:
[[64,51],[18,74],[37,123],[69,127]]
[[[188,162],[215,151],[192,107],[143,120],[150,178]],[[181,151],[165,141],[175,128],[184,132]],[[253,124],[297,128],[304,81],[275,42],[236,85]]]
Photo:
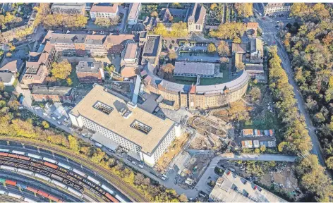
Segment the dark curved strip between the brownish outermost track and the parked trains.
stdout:
[[26,144],[23,146],[22,144],[20,144],[18,142],[9,142],[9,143],[10,143],[10,145],[7,145],[7,142],[0,140],[0,148],[16,149],[16,150],[22,151],[22,152],[30,152],[32,154],[38,154],[40,156],[45,156],[49,159],[54,159],[56,161],[60,161],[63,164],[67,164],[73,168],[77,168],[78,170],[83,171],[88,176],[92,176],[93,178],[96,178],[102,184],[107,185],[107,187],[111,188],[111,190],[114,190],[115,194],[120,195],[123,199],[126,199],[126,201],[128,201],[128,202],[130,201],[130,199],[128,199],[125,195],[121,194],[121,192],[119,192],[119,190],[116,190],[116,188],[113,185],[111,185],[111,183],[109,183],[108,180],[106,180],[104,177],[100,176],[95,171],[91,171],[89,168],[86,168],[85,166],[83,166],[82,165],[83,163],[76,163],[75,161],[72,161],[71,159],[68,159],[65,156],[61,156],[59,154],[54,154],[46,149],[37,149],[37,147],[33,147],[30,145],[26,145]]

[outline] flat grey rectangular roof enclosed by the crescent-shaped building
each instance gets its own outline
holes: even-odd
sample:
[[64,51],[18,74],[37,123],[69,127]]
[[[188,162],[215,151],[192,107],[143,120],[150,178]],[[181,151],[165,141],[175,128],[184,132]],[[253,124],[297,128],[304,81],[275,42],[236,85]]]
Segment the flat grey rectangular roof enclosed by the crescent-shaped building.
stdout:
[[196,75],[214,75],[214,63],[198,63],[176,61],[174,73],[189,73]]

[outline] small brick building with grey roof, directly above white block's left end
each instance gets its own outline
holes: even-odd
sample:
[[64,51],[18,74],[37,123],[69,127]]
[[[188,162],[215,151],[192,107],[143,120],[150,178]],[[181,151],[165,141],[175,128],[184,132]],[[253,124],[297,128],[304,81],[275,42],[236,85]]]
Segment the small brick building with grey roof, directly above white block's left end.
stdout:
[[80,61],[76,66],[76,75],[82,83],[102,84],[104,78],[103,63]]

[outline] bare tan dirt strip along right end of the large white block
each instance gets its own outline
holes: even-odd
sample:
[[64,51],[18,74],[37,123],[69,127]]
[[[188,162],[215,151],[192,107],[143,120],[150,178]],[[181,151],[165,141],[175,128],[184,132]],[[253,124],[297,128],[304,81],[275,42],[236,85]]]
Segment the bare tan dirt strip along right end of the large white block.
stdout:
[[188,133],[183,133],[170,144],[170,147],[166,149],[166,152],[157,161],[155,166],[157,167],[157,171],[164,171],[164,169],[168,168],[171,160],[174,159],[179,152],[181,152],[183,145],[186,144],[188,135]]

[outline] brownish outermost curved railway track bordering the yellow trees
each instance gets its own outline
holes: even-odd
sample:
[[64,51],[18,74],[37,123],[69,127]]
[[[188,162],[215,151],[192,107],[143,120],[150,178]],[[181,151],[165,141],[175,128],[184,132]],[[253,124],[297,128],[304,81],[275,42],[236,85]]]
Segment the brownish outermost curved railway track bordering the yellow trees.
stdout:
[[56,154],[60,154],[63,156],[68,157],[69,159],[72,159],[75,162],[78,163],[84,163],[83,165],[89,168],[92,171],[96,171],[101,176],[103,176],[105,179],[109,180],[110,183],[114,183],[114,187],[116,187],[117,190],[122,192],[124,195],[128,195],[128,198],[131,199],[132,202],[150,202],[149,199],[141,195],[138,190],[136,190],[134,187],[131,187],[131,185],[128,185],[125,183],[121,178],[118,176],[113,175],[107,169],[103,168],[102,166],[99,166],[89,159],[80,156],[78,154],[74,154],[73,152],[68,152],[66,149],[61,149],[60,147],[54,147],[53,145],[47,145],[44,143],[39,143],[38,141],[28,141],[28,140],[21,140],[19,137],[4,137],[0,136],[0,140],[2,141],[15,141],[20,142],[23,144],[30,144],[35,147],[40,147],[43,149],[48,149],[52,152],[55,152]]

